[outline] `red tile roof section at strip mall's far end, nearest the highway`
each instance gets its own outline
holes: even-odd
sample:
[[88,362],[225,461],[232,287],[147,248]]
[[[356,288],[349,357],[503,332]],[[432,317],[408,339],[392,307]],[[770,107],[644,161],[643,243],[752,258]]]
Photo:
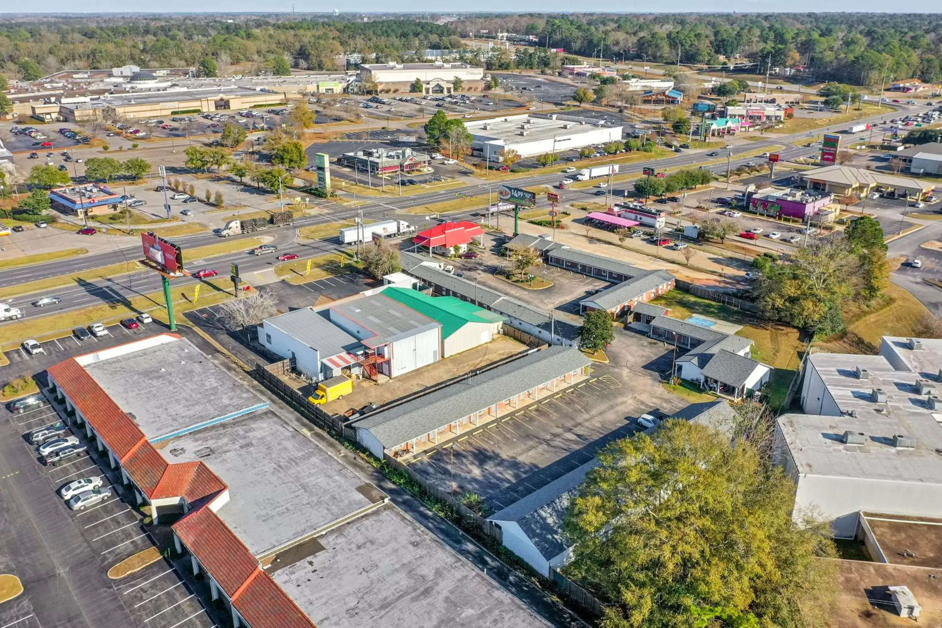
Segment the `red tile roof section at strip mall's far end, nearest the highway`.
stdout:
[[141,441],[146,441],[134,419],[74,359],[49,367],[48,373],[119,459],[124,461]]

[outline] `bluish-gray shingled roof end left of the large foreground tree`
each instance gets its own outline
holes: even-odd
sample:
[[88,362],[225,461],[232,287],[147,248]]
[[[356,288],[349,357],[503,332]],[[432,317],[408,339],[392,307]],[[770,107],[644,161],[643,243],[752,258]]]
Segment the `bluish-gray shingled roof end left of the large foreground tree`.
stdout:
[[598,466],[592,459],[523,499],[488,517],[493,522],[515,522],[546,559],[560,556],[568,547],[562,538],[562,523],[570,499],[586,475]]

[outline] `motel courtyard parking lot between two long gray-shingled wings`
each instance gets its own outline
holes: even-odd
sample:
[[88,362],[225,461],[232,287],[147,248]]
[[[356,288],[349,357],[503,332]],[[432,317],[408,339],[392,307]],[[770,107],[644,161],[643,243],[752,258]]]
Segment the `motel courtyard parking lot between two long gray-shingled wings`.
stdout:
[[642,413],[686,405],[660,385],[671,355],[618,330],[609,364],[593,363],[591,379],[427,450],[411,468],[445,490],[478,493],[492,511],[507,507],[636,432]]

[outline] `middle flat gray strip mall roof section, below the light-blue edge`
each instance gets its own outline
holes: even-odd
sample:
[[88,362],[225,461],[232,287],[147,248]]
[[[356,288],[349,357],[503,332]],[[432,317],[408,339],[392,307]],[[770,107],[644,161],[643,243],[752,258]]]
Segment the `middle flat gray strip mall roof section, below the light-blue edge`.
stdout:
[[372,504],[362,487],[373,485],[273,411],[201,429],[158,449],[171,463],[205,462],[229,485],[229,502],[217,514],[255,556]]

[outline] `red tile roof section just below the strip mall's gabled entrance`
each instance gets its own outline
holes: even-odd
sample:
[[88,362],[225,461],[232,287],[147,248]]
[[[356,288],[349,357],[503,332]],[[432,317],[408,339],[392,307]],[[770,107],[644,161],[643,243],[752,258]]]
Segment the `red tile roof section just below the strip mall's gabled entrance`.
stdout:
[[230,599],[252,572],[262,569],[249,548],[209,507],[190,511],[173,524],[173,531]]

